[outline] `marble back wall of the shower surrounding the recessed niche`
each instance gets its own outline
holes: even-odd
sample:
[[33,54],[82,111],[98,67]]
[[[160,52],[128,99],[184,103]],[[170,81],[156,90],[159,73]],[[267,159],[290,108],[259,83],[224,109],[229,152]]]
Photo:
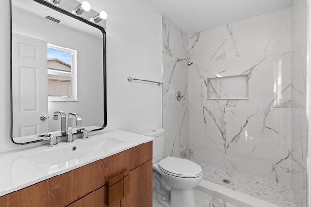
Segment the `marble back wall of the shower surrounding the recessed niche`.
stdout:
[[[305,68],[293,50],[300,44],[293,44],[300,38],[293,30],[301,30],[293,28],[297,12],[291,6],[189,35],[191,159],[305,188]],[[207,100],[207,78],[243,74],[248,100]]]

